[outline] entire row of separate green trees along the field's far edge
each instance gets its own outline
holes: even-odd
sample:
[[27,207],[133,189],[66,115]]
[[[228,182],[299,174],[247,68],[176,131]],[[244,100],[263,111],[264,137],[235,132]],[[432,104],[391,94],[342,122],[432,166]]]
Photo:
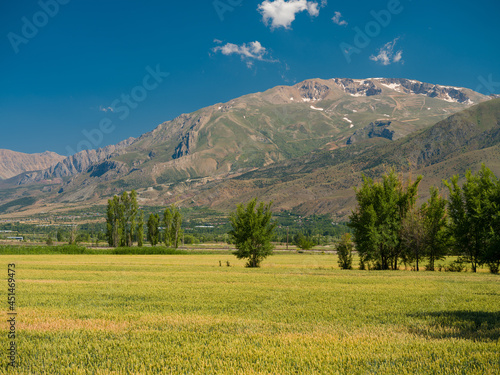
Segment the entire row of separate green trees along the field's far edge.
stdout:
[[[394,169],[373,181],[363,176],[356,189],[357,207],[350,216],[346,233],[337,247],[339,266],[352,268],[352,251],[360,258],[361,269],[399,269],[401,264],[434,270],[436,262],[448,255],[458,256],[453,267],[470,263],[472,271],[488,265],[492,273],[500,271],[500,180],[484,164],[473,174],[468,171],[460,186],[459,176],[443,181],[448,198],[437,187],[430,198],[417,205],[422,176],[404,181]],[[253,199],[238,205],[229,221],[228,235],[236,246],[238,258],[246,258],[248,267],[259,267],[272,254],[276,221],[271,205]],[[182,236],[182,216],[175,206],[166,208],[163,218],[151,214],[147,238],[153,246],[163,241],[178,247]],[[160,230],[163,225],[163,232]],[[144,217],[138,209],[135,191],[124,192],[108,201],[107,238],[110,246],[131,246],[134,238],[143,245]],[[297,236],[297,243],[310,241]],[[306,245],[310,245],[309,243]]]

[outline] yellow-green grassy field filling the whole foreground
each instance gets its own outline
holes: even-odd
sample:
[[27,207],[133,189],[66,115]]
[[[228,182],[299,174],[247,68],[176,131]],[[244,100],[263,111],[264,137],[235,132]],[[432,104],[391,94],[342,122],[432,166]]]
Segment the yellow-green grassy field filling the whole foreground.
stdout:
[[[342,271],[328,254],[261,269],[229,254],[0,261],[16,263],[22,374],[500,373],[486,272]],[[7,280],[1,293],[7,311]]]

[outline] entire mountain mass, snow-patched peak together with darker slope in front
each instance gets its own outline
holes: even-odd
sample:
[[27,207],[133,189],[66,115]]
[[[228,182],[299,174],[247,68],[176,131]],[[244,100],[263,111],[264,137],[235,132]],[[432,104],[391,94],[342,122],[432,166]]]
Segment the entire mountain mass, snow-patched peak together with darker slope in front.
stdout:
[[50,166],[20,165],[23,173],[0,181],[0,211],[104,204],[136,189],[143,205],[227,211],[258,196],[278,209],[343,218],[361,172],[394,165],[439,184],[481,161],[496,168],[499,107],[466,88],[408,79],[278,86],[183,114],[137,139],[57,155]]

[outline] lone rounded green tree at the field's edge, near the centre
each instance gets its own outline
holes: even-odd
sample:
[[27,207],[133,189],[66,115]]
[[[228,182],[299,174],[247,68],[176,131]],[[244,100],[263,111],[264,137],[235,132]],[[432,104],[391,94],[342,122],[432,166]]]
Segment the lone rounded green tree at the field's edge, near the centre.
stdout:
[[233,228],[229,235],[237,249],[234,255],[247,259],[247,267],[260,267],[273,252],[271,239],[276,222],[272,221],[271,205],[260,202],[257,206],[257,199],[252,199],[246,206],[239,204],[229,218]]

